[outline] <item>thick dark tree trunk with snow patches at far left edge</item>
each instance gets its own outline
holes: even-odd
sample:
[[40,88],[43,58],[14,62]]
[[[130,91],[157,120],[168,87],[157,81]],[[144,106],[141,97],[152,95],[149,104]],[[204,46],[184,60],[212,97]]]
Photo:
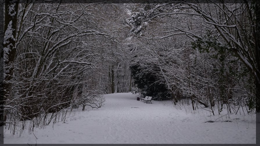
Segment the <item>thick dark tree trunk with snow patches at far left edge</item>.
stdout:
[[[12,5],[12,6],[11,6]],[[15,60],[16,48],[15,39],[17,31],[17,13],[18,13],[19,0],[5,1],[5,19],[4,19],[4,34],[3,34],[3,49],[1,49],[1,79],[0,79],[0,105],[1,113],[3,113],[4,100],[8,99],[10,92],[10,83],[6,81],[11,80],[13,75],[12,63]],[[13,7],[11,10],[9,7]],[[8,66],[8,67],[7,67]],[[3,126],[3,122],[6,118],[3,114],[0,114],[0,126]]]

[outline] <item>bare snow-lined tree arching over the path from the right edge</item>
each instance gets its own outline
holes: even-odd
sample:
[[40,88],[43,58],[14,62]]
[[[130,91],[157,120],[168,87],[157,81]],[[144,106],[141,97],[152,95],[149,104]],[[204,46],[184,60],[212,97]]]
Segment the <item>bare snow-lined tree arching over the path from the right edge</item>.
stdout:
[[[165,30],[148,36],[151,39],[186,35],[192,41],[209,43],[212,39],[207,37],[206,30],[209,30],[210,36],[216,39],[215,45],[232,51],[254,77],[255,97],[256,101],[259,101],[259,47],[256,33],[258,25],[255,25],[258,22],[254,17],[258,7],[256,1],[234,1],[233,3],[171,1],[152,5],[149,10],[133,13],[127,21],[132,27],[132,33],[143,35],[149,23],[170,18],[173,23],[162,24],[160,27]],[[185,20],[188,22],[184,23]],[[258,109],[257,107],[257,111]]]

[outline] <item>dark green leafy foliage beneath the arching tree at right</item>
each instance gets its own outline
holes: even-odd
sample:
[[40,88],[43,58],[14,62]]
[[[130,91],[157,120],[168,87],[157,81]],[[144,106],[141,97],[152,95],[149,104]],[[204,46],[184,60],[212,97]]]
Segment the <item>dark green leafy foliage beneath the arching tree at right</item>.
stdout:
[[[217,60],[214,63],[213,71],[216,74],[216,87],[218,89],[218,100],[220,101],[219,111],[223,110],[223,104],[229,105],[233,101],[233,92],[237,84],[243,82],[244,88],[248,93],[254,93],[255,86],[252,84],[253,78],[248,68],[239,62],[237,57],[234,57],[234,53],[227,48],[227,45],[220,43],[217,40],[217,36],[214,36],[207,30],[207,35],[203,38],[197,39],[192,42],[192,48],[198,50],[200,53],[209,54],[208,59]],[[240,63],[240,64],[238,64]],[[231,92],[229,91],[231,90]],[[233,90],[233,91],[232,91]],[[248,106],[248,112],[254,111],[255,96],[244,96],[245,105]],[[239,105],[239,104],[236,104]]]

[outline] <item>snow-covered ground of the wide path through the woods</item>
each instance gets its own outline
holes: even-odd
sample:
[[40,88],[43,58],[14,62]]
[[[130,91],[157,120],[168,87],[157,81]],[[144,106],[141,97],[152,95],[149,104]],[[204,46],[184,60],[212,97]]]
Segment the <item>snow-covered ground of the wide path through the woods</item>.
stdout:
[[[107,94],[104,107],[89,111],[79,109],[65,123],[34,129],[31,134],[25,130],[21,137],[5,129],[4,143],[256,143],[255,114],[223,116],[223,111],[223,117],[218,114],[210,116],[208,111],[201,108],[191,113],[191,107],[185,106],[186,110],[181,107],[180,110],[173,107],[171,101],[152,100],[152,104],[145,104],[136,100],[137,95]],[[209,120],[215,122],[207,122]],[[231,122],[223,122],[225,120]]]

